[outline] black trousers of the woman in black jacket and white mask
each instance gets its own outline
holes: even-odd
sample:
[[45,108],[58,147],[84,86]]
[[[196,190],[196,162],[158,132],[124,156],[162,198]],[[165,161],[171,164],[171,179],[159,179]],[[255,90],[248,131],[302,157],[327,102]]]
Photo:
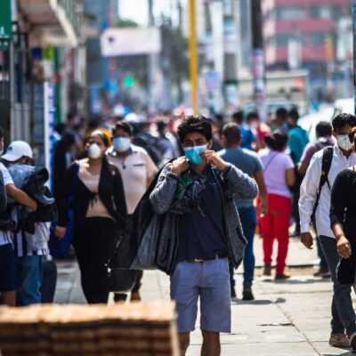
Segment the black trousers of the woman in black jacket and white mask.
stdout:
[[116,231],[116,223],[102,217],[87,218],[75,227],[73,247],[89,304],[108,303],[109,279],[105,263],[114,249]]

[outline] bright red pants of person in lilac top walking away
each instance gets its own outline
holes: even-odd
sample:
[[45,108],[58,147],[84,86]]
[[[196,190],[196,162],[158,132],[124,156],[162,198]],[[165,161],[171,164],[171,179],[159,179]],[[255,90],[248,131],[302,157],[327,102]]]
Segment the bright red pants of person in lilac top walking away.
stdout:
[[289,222],[292,202],[277,194],[268,195],[268,213],[260,218],[260,233],[263,238],[263,262],[271,264],[273,241],[278,241],[276,273],[282,274],[286,268],[289,243]]

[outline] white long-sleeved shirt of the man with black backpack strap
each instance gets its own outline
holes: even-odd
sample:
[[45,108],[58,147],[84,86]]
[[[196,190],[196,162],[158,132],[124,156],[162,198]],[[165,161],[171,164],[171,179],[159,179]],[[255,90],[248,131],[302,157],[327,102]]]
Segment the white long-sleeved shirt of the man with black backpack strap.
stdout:
[[[312,210],[317,198],[317,191],[320,183],[321,161],[323,150],[320,150],[312,156],[311,163],[306,171],[303,179],[300,198],[299,198],[299,214],[301,220],[301,232],[309,232],[311,224]],[[345,158],[343,152],[334,146],[333,160],[331,162],[330,171],[328,173],[328,182],[332,188],[336,175],[343,169],[356,165],[356,155],[354,152],[349,158]],[[330,228],[330,195],[331,191],[328,188],[328,182],[324,184],[320,193],[320,200],[317,211],[315,212],[316,228],[318,235],[334,238],[334,233]]]

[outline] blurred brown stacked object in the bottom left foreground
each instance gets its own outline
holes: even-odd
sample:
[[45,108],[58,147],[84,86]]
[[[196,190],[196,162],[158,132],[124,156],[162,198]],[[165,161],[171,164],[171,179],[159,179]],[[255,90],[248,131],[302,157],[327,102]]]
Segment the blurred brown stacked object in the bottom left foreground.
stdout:
[[177,356],[174,303],[0,308],[3,356]]

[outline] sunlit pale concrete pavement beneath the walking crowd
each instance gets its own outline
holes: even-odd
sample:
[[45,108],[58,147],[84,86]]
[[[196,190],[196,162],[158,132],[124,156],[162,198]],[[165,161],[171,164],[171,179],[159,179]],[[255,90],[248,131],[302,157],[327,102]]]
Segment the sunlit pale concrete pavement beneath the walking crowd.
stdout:
[[[262,266],[262,241],[256,237],[256,264]],[[315,250],[291,239],[288,266],[293,277],[275,282],[261,277],[257,267],[255,301],[242,302],[241,270],[237,272],[237,294],[232,303],[232,333],[222,336],[222,355],[352,355],[347,349],[328,345],[331,283],[312,277],[317,263]],[[59,264],[56,303],[85,303],[78,280],[76,263]],[[169,299],[169,279],[159,271],[146,271],[143,278],[144,301]],[[189,356],[199,354],[201,337],[197,330],[191,338]]]

